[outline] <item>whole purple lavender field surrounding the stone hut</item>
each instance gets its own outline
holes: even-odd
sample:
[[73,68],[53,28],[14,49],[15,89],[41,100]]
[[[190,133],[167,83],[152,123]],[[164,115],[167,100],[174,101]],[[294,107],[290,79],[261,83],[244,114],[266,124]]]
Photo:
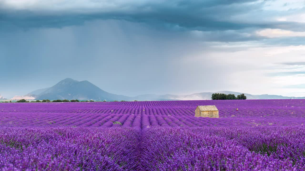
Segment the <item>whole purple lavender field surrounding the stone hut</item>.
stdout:
[[0,169],[305,170],[304,124],[301,99],[0,103]]

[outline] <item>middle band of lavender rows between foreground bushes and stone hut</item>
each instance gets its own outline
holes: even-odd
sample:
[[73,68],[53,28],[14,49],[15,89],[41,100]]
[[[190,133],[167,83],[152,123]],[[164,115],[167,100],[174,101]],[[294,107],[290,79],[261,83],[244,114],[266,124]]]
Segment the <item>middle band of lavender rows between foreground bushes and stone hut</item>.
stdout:
[[[117,123],[117,124],[116,124]],[[74,126],[74,127],[221,127],[221,126],[289,126],[304,125],[305,117],[232,116],[203,118],[193,116],[158,116],[85,113],[0,113],[0,126]]]

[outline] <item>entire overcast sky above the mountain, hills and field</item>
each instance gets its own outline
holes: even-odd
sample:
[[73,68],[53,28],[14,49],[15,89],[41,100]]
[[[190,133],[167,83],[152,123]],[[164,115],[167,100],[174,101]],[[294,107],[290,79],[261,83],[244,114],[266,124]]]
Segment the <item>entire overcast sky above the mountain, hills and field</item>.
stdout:
[[305,96],[304,0],[0,0],[0,94]]

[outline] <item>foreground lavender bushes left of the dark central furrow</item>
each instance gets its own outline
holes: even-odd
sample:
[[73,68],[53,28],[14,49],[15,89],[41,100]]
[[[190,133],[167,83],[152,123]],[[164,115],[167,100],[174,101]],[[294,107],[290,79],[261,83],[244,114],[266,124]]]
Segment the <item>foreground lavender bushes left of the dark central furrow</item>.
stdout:
[[1,128],[0,170],[134,170],[139,133],[121,128]]

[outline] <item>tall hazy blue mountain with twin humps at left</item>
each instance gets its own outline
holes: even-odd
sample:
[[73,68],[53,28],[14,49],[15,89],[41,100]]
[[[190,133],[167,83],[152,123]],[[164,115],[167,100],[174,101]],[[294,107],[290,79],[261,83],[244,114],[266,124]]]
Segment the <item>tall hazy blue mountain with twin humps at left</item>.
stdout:
[[[34,94],[37,93],[37,94]],[[30,92],[35,99],[130,100],[131,97],[106,92],[88,81],[64,79],[50,88]],[[34,95],[33,95],[34,94]]]

